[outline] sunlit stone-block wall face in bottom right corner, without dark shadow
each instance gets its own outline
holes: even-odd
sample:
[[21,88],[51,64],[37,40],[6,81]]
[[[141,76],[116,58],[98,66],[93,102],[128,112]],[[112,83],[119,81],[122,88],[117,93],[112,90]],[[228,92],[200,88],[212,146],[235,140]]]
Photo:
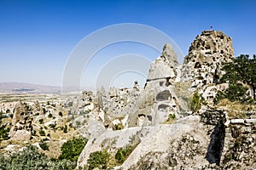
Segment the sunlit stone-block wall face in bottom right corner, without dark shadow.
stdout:
[[231,119],[225,123],[222,167],[256,166],[256,119]]

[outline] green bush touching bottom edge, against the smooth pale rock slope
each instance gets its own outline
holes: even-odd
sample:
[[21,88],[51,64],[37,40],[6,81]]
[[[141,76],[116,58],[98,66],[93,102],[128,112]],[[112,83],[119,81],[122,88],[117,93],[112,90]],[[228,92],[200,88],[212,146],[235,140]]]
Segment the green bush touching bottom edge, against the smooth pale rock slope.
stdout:
[[90,154],[88,159],[89,169],[107,169],[109,154],[107,150],[96,151]]

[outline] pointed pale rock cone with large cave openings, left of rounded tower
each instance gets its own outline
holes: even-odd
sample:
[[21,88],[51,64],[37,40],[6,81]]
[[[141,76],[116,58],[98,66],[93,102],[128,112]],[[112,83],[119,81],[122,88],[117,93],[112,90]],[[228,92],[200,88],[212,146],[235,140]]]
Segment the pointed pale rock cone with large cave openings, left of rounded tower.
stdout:
[[177,54],[166,44],[150,66],[145,88],[129,116],[129,127],[156,125],[165,122],[170,114],[177,114],[177,70]]

